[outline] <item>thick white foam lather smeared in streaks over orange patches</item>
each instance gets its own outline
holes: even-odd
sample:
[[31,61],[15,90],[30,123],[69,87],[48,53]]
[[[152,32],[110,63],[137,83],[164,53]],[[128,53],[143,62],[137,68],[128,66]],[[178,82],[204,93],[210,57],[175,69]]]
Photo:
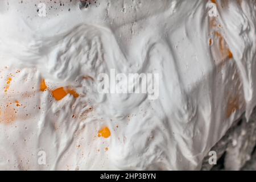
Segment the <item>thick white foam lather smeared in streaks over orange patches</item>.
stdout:
[[[255,6],[1,0],[0,169],[201,169],[256,105]],[[158,97],[99,93],[111,69]]]

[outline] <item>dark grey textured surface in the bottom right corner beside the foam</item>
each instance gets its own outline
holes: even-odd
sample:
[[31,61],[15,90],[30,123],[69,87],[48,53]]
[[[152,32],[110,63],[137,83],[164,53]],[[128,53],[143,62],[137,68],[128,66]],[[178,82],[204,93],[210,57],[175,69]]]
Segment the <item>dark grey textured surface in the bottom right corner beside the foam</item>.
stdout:
[[203,160],[202,170],[256,170],[256,109],[249,121],[244,115],[228,130],[226,135],[211,149],[216,151],[218,162],[209,164]]

